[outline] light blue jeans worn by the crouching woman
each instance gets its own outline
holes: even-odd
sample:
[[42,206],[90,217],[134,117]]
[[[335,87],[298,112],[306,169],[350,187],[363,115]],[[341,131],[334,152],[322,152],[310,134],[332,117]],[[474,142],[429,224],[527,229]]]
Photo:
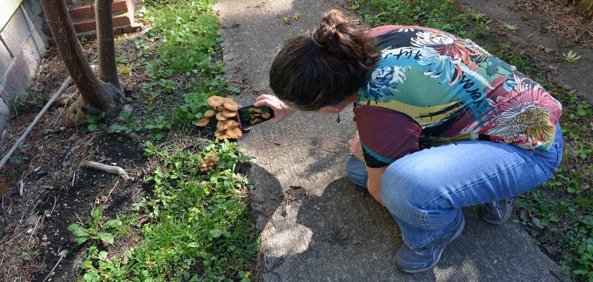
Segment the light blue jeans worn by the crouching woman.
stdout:
[[[511,198],[546,182],[562,160],[557,126],[550,152],[490,141],[463,141],[423,149],[389,165],[381,198],[400,226],[406,245],[438,238],[461,207]],[[350,157],[346,174],[366,188],[363,162]]]

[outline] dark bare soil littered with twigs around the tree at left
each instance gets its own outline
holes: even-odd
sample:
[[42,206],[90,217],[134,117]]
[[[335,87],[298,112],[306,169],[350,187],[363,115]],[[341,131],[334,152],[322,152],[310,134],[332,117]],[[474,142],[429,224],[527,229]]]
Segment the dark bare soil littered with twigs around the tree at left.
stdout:
[[[133,42],[116,46],[117,55],[125,57],[128,65],[140,63]],[[84,51],[92,62],[96,52],[94,43],[85,44]],[[68,72],[57,50],[49,50],[23,100],[31,107],[27,111],[14,112],[14,120],[2,133],[0,150],[3,155],[31,123],[39,106],[45,104],[33,104],[33,101],[52,95],[66,76]],[[139,82],[144,81],[144,73],[132,69],[121,77],[130,89],[126,93],[126,110],[142,116],[146,104],[139,91]],[[1,207],[5,212],[0,217],[0,246],[4,253],[0,258],[0,277],[42,281],[58,261],[57,254],[67,249],[69,254],[62,259],[53,277],[60,281],[75,281],[87,246],[75,245],[72,233],[66,229],[68,225],[84,221],[88,212],[99,204],[104,204],[106,217],[114,217],[150,191],[151,185],[143,182],[144,173],[150,168],[145,167],[146,158],[139,146],[140,140],[126,139],[118,133],[88,133],[84,127],[61,127],[63,112],[75,95],[74,85],[66,88],[25,139],[21,149],[15,152],[15,158],[23,160],[22,163],[9,162],[4,168],[1,186],[3,192],[12,197],[4,194]],[[139,135],[145,133],[139,132]],[[121,166],[133,180],[118,180],[117,175],[79,169],[82,160]],[[19,196],[21,180],[22,197]],[[125,245],[114,246],[126,249]],[[114,250],[113,254],[116,253]]]

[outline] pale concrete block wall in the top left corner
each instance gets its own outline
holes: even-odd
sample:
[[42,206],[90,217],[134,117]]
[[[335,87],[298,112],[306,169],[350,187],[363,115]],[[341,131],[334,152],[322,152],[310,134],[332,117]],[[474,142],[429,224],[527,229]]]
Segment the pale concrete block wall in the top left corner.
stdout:
[[11,99],[27,89],[39,60],[45,56],[43,9],[37,0],[24,0],[0,30],[0,130],[10,118]]

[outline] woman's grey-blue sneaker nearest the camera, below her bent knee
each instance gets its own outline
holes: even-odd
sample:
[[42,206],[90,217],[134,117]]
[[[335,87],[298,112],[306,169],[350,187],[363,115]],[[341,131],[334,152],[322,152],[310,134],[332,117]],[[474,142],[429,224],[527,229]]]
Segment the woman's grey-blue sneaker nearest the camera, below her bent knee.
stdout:
[[397,266],[407,273],[420,273],[433,268],[441,259],[445,246],[461,234],[465,225],[466,220],[459,210],[452,226],[441,237],[420,248],[410,248],[406,244],[401,246],[395,258]]

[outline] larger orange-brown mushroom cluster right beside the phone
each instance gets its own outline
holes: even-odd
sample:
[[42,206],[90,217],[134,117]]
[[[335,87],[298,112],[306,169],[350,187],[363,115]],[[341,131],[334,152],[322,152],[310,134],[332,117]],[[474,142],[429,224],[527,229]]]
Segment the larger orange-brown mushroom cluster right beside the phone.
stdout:
[[237,116],[237,110],[241,107],[240,104],[237,104],[231,98],[219,96],[212,96],[206,102],[212,107],[212,110],[206,111],[204,118],[197,121],[196,126],[206,126],[210,123],[211,118],[215,118],[218,123],[216,123],[214,136],[219,140],[237,139],[243,135],[239,123],[233,119]]

